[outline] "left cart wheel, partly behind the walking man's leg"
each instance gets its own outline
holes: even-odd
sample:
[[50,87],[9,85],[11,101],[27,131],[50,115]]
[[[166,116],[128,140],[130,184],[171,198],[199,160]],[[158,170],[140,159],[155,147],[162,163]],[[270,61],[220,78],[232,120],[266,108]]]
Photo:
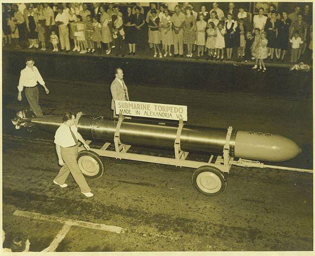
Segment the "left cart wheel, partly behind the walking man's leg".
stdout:
[[83,175],[89,179],[96,180],[104,173],[104,164],[100,160],[100,157],[93,151],[80,151],[77,161]]

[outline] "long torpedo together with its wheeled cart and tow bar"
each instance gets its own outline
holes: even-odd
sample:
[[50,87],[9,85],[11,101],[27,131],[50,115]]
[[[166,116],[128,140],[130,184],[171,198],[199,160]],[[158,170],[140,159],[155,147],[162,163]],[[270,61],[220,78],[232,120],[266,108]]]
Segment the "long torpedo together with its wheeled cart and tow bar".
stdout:
[[[37,127],[54,133],[62,124],[61,116],[36,117],[30,111],[19,111],[12,119],[16,128]],[[231,165],[246,167],[274,168],[293,171],[313,172],[312,170],[264,165],[257,160],[285,161],[302,152],[292,140],[277,134],[228,129],[179,125],[174,122],[160,122],[144,119],[119,119],[103,116],[77,116],[78,132],[91,141],[102,141],[100,149],[91,151],[79,149],[78,163],[86,177],[99,178],[103,171],[103,162],[99,156],[116,159],[156,162],[175,166],[197,168],[192,175],[193,186],[206,195],[217,195],[225,191],[224,172],[229,172]],[[115,150],[108,150],[110,143]],[[171,149],[175,158],[163,158],[128,153],[133,146]],[[189,152],[210,155],[207,162],[188,160]],[[246,160],[247,159],[247,160]],[[251,159],[251,160],[248,160]],[[255,160],[255,161],[254,161]]]

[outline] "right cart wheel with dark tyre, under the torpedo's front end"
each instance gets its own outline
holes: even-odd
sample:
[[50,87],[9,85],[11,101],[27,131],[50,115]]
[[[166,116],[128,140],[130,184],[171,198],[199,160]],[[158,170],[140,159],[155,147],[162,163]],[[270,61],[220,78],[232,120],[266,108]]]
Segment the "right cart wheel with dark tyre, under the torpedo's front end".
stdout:
[[201,166],[191,176],[192,186],[205,195],[215,196],[223,193],[227,187],[227,181],[223,173],[212,166]]

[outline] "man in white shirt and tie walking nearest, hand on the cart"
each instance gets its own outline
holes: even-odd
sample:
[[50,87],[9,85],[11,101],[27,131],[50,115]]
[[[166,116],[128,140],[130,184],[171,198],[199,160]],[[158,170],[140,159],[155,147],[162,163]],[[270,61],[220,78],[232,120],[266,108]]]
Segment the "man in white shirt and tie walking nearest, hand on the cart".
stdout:
[[[81,114],[82,113],[78,113],[78,115]],[[91,193],[91,189],[77,162],[78,140],[83,143],[87,150],[90,150],[90,146],[85,142],[81,134],[78,132],[78,128],[75,126],[74,114],[66,111],[63,114],[63,124],[57,129],[54,141],[56,144],[58,163],[63,167],[61,167],[53,182],[61,188],[67,187],[68,185],[64,182],[71,172],[73,179],[79,185],[81,192],[85,196],[91,197],[94,194]]]

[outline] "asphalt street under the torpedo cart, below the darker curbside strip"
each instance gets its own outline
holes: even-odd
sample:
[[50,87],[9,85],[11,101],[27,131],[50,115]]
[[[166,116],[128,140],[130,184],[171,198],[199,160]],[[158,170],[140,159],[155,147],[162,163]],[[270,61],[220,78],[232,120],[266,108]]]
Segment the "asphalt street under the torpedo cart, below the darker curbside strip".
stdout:
[[[128,76],[125,74],[126,84]],[[67,188],[52,183],[60,166],[53,134],[16,130],[10,119],[27,108],[16,99],[16,77],[2,86],[3,229],[27,233],[31,251],[47,247],[63,224],[53,217],[114,225],[120,234],[72,226],[57,252],[114,251],[312,251],[313,175],[232,167],[227,190],[207,197],[191,185],[193,169],[103,158],[104,175],[88,180],[85,198],[71,176]],[[46,80],[44,115],[65,110],[111,116],[109,84]],[[277,165],[313,166],[312,99],[214,94],[196,90],[128,86],[130,100],[188,106],[188,124],[271,132],[297,142],[303,153]],[[135,149],[141,152],[141,149]],[[171,156],[172,152],[151,150]],[[203,158],[203,156],[197,156]],[[15,211],[53,216],[42,220]]]

